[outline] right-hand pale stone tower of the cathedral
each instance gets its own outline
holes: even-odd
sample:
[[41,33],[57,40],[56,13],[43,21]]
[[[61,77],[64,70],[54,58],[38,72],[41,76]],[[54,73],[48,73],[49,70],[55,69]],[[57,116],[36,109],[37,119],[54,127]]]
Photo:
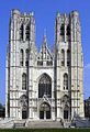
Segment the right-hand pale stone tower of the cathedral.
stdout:
[[[77,116],[83,117],[83,54],[81,26],[77,11],[72,11],[69,15],[57,13],[55,44],[57,99],[60,99],[66,92],[70,100],[65,107],[65,111],[69,109],[71,119]],[[64,78],[65,80],[63,80]],[[67,79],[68,84],[65,82]],[[58,112],[60,112],[59,107],[57,107]]]

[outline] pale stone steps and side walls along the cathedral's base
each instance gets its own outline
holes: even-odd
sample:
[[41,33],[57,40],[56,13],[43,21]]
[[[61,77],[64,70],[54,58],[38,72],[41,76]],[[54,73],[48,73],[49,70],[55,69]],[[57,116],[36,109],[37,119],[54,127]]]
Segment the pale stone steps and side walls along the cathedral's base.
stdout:
[[57,129],[57,128],[90,128],[89,119],[75,119],[72,122],[59,122],[53,120],[12,120],[12,119],[1,119],[0,128],[10,129],[10,128],[29,128],[29,129]]

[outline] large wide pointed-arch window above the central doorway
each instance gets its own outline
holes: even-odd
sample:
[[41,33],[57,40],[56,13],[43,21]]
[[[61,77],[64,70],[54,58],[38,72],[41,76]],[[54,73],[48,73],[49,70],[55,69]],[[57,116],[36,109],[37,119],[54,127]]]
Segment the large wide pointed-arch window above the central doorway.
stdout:
[[46,74],[43,74],[38,81],[38,98],[43,98],[43,96],[52,98],[52,79]]

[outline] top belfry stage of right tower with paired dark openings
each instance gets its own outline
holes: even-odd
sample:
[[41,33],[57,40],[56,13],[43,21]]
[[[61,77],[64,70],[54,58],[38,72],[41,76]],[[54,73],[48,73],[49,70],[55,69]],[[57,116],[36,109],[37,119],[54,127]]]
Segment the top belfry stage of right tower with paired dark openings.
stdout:
[[56,42],[69,42],[70,41],[70,19],[64,13],[57,13],[56,16]]

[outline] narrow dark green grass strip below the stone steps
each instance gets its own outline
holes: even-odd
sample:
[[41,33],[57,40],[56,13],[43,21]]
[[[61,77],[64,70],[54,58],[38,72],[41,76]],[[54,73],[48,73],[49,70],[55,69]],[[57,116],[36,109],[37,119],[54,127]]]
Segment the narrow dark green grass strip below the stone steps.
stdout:
[[0,132],[90,132],[90,129],[0,129]]

